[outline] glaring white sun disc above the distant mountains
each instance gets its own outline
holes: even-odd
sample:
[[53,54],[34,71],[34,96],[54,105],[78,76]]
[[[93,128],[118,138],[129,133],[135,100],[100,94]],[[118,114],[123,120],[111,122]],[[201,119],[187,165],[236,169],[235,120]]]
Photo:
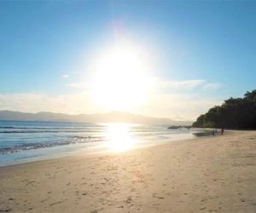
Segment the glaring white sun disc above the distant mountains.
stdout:
[[94,63],[91,95],[104,109],[127,111],[147,98],[148,61],[137,46],[115,46]]

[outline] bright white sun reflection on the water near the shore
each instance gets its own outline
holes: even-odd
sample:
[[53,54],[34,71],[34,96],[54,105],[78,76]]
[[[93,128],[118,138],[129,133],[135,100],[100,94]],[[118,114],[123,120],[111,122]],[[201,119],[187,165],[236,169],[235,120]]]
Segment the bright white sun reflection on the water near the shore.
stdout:
[[108,124],[106,133],[108,149],[124,152],[135,147],[136,140],[132,137],[130,124]]

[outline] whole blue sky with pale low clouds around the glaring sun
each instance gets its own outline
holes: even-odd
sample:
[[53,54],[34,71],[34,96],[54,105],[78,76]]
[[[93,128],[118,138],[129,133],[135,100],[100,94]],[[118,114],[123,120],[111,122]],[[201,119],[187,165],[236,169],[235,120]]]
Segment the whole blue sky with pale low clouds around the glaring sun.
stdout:
[[1,1],[0,110],[195,120],[256,89],[255,22],[253,1]]

